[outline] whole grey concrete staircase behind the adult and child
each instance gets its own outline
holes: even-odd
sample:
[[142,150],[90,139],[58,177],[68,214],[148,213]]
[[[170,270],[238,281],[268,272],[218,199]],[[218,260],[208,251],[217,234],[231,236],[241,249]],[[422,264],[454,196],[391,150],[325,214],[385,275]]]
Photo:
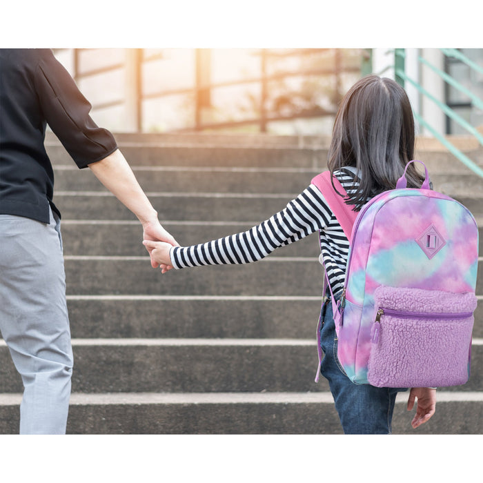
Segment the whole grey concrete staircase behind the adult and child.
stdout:
[[[282,209],[324,170],[328,146],[315,137],[116,137],[159,219],[185,245]],[[161,275],[132,213],[79,171],[55,137],[46,144],[75,354],[68,433],[342,433],[328,385],[314,382],[316,235],[256,264]],[[431,139],[418,146],[435,189],[460,199],[483,226],[483,179]],[[483,164],[482,150],[466,151]],[[483,433],[482,263],[469,383],[438,391],[437,413],[416,431],[403,393],[393,433]],[[17,433],[22,387],[5,344],[0,391],[0,433]]]

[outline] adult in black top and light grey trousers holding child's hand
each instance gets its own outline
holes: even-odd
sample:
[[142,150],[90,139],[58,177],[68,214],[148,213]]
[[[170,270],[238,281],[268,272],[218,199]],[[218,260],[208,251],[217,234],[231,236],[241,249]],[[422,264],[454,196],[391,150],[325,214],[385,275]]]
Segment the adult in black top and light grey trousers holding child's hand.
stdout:
[[[24,391],[21,434],[66,432],[72,346],[46,124],[139,219],[144,238],[176,244],[115,138],[49,49],[0,49],[0,331]],[[157,264],[151,259],[155,268]]]

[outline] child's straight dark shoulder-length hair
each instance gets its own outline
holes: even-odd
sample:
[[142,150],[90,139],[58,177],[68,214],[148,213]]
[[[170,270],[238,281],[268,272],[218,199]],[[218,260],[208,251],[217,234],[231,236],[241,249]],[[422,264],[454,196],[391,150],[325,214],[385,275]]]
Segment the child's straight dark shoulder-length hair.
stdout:
[[[369,75],[348,90],[335,117],[328,168],[344,166],[360,172],[360,184],[346,201],[358,211],[373,197],[394,189],[404,167],[414,159],[413,110],[404,89],[386,77]],[[414,164],[406,171],[408,188],[424,178]]]

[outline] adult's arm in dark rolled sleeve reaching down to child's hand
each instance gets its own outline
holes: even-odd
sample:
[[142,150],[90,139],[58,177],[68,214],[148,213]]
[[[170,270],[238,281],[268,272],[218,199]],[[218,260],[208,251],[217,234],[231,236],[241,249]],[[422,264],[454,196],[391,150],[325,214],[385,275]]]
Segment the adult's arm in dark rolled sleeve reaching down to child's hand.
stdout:
[[[79,168],[89,167],[101,183],[141,222],[144,239],[177,244],[159,224],[157,212],[139,186],[112,133],[90,117],[90,103],[52,51],[37,51],[34,83],[40,108],[52,131]],[[150,253],[150,250],[148,250]],[[158,264],[151,257],[151,265]]]

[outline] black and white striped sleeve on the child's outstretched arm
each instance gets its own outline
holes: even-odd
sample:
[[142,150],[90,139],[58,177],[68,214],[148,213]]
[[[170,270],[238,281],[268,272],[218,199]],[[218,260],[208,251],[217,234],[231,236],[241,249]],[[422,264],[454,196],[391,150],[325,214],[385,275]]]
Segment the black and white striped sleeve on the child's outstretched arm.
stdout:
[[257,262],[279,248],[324,229],[332,213],[322,193],[308,186],[287,206],[249,230],[228,235],[204,244],[173,247],[170,250],[174,268],[213,264],[246,264]]

